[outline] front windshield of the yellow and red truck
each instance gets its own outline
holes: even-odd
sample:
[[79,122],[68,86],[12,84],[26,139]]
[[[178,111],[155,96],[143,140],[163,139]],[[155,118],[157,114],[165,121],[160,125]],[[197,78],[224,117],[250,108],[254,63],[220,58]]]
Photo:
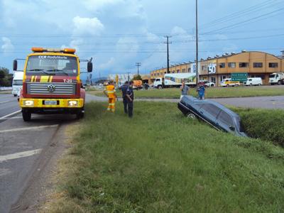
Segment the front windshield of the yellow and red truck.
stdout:
[[77,76],[77,73],[77,58],[64,55],[32,55],[26,67],[26,75]]

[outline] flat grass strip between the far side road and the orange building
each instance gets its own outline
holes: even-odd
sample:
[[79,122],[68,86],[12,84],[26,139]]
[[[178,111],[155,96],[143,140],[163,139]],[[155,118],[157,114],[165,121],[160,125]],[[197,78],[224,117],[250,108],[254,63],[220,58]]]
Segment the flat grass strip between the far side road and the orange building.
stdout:
[[[102,91],[90,91],[90,94],[104,96]],[[121,92],[117,92],[121,96]],[[148,89],[135,92],[136,98],[169,98],[175,99],[180,97],[180,89]],[[197,96],[194,88],[190,89],[190,95]],[[206,88],[205,97],[222,98],[222,97],[260,97],[260,96],[277,96],[284,95],[283,87],[211,87]]]

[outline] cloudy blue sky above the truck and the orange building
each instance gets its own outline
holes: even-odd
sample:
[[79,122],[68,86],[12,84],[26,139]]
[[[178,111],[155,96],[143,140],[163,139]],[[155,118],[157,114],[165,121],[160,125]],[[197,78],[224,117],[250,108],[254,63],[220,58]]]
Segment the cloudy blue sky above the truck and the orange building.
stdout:
[[[11,70],[32,46],[77,49],[93,76],[149,73],[195,59],[194,0],[0,0],[0,67]],[[283,0],[199,0],[200,57],[284,49]]]

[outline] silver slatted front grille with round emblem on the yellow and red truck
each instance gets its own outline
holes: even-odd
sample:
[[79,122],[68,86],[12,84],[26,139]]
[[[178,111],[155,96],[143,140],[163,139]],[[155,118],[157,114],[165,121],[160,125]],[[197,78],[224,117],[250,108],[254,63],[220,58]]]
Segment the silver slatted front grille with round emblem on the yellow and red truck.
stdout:
[[76,84],[27,83],[28,94],[76,94]]

